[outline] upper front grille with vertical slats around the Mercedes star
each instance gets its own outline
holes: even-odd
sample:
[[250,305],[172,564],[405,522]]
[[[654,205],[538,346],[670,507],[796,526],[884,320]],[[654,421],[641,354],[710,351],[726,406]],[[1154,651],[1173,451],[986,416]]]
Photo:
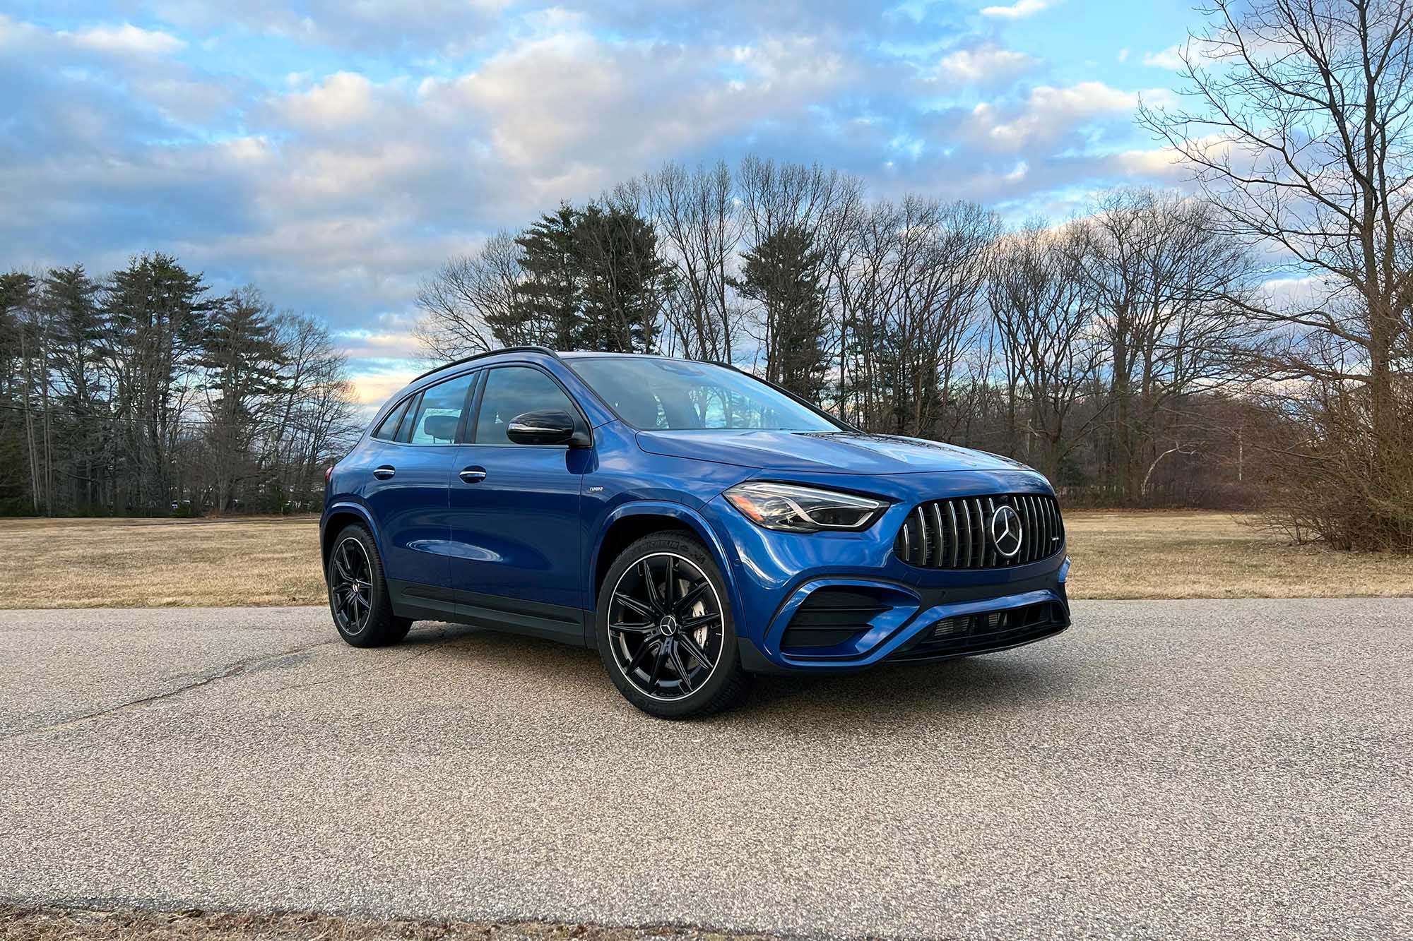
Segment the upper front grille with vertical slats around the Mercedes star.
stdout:
[[[1020,548],[998,551],[992,519],[1009,506],[1020,521]],[[1010,548],[1009,545],[1006,548]],[[893,551],[924,568],[1007,568],[1037,562],[1064,548],[1064,523],[1053,496],[1003,493],[933,500],[914,509],[897,533]]]

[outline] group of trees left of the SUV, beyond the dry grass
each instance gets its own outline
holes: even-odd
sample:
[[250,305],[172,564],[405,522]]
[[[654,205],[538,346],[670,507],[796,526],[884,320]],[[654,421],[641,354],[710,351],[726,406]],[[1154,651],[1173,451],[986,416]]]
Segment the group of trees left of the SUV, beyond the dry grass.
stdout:
[[317,509],[356,418],[328,328],[253,287],[165,254],[0,276],[0,513]]

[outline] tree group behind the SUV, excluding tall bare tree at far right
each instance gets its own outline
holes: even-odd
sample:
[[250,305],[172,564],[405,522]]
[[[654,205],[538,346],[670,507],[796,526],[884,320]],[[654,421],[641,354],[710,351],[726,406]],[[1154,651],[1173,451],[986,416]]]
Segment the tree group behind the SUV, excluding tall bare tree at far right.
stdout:
[[540,343],[733,363],[870,431],[1016,456],[1074,499],[1241,503],[1222,422],[1243,411],[1224,389],[1246,328],[1224,294],[1253,273],[1210,209],[1149,189],[1007,229],[747,157],[667,164],[495,236],[424,283],[418,331],[431,359]]

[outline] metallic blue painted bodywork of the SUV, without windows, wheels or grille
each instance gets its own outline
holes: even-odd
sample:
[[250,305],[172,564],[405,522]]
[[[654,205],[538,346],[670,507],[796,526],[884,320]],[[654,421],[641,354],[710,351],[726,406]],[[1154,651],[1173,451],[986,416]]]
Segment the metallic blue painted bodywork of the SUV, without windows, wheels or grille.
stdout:
[[[658,519],[687,527],[721,568],[736,633],[752,653],[747,667],[757,668],[859,670],[886,660],[944,617],[1064,602],[1068,560],[1063,551],[1029,565],[975,571],[918,568],[893,552],[904,519],[924,500],[1051,495],[1050,483],[1023,465],[937,442],[852,431],[634,431],[565,360],[572,362],[513,352],[420,377],[390,398],[369,427],[377,427],[407,394],[449,376],[531,363],[575,400],[592,430],[591,446],[420,448],[365,435],[333,469],[325,520],[349,510],[369,519],[391,579],[577,610],[586,623],[598,600],[595,575],[606,568],[605,538],[616,524]],[[391,480],[372,476],[384,465],[396,466]],[[483,469],[486,476],[468,483],[458,476],[465,468]],[[890,506],[863,533],[773,531],[749,521],[722,496],[743,480],[849,490]],[[325,540],[331,537],[324,533]],[[846,585],[866,586],[892,608],[845,644],[781,651],[786,625],[804,599],[821,586]]]

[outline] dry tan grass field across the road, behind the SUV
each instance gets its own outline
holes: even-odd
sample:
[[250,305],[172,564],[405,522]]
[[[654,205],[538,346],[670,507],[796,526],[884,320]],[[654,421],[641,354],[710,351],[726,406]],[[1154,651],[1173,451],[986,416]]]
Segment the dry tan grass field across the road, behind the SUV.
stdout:
[[[1413,558],[1287,545],[1228,513],[1065,523],[1074,598],[1413,595]],[[0,520],[0,608],[322,603],[312,517]]]

